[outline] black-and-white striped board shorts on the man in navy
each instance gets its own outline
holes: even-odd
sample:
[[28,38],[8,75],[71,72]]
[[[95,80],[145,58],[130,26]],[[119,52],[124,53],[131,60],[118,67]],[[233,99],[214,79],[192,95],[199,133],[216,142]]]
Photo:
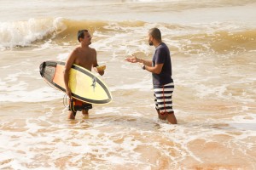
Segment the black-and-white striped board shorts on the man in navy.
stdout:
[[164,86],[154,86],[155,109],[160,113],[172,112],[172,92],[174,83],[171,82]]

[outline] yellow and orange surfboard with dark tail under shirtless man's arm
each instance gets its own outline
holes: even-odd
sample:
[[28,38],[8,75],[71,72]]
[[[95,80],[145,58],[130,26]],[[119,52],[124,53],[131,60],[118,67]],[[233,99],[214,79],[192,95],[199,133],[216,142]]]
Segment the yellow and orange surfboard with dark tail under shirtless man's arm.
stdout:
[[[66,93],[63,71],[65,62],[44,61],[39,66],[41,76],[54,88]],[[107,104],[112,100],[107,85],[92,72],[79,65],[73,65],[69,71],[69,88],[72,96],[90,104]]]

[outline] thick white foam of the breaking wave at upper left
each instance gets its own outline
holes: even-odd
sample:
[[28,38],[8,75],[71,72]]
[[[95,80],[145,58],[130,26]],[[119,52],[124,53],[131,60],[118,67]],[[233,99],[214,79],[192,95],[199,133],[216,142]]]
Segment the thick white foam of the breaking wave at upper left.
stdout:
[[29,19],[26,21],[0,22],[0,44],[3,47],[29,46],[45,36],[55,36],[67,27],[61,18]]

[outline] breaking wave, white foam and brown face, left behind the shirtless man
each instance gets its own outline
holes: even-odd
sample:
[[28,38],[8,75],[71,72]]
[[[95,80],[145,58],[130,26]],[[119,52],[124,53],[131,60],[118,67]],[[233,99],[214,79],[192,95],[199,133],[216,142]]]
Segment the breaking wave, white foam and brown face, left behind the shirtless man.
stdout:
[[[143,22],[120,22],[119,24],[123,26],[142,26]],[[116,26],[113,29],[116,29]],[[68,20],[63,18],[2,22],[0,23],[0,47],[27,47],[48,40],[77,42],[77,31],[82,29],[94,32],[109,31],[112,28],[108,21]]]

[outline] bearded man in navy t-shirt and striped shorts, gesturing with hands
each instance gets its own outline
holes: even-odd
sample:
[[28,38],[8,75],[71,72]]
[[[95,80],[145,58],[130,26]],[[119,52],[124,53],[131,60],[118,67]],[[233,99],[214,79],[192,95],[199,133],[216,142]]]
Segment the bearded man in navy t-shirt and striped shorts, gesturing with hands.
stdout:
[[154,85],[155,109],[159,118],[177,124],[174,111],[172,110],[172,92],[174,84],[172,80],[172,62],[169,48],[161,40],[161,32],[158,28],[148,31],[148,43],[155,47],[152,60],[138,59],[131,56],[126,60],[131,63],[142,63],[143,70],[152,72]]

